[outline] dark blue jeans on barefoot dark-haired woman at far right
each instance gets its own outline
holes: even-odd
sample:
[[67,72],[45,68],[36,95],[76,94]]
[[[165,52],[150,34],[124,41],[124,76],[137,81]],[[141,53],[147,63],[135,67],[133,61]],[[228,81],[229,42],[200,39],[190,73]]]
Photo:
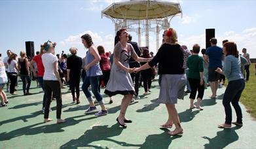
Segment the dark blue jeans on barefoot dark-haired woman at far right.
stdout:
[[236,110],[236,122],[242,124],[242,110],[238,102],[241,97],[242,91],[244,90],[244,87],[244,79],[233,80],[229,82],[222,101],[226,114],[225,124],[231,124],[232,122],[232,109],[230,106],[230,102],[232,103],[234,110]]

